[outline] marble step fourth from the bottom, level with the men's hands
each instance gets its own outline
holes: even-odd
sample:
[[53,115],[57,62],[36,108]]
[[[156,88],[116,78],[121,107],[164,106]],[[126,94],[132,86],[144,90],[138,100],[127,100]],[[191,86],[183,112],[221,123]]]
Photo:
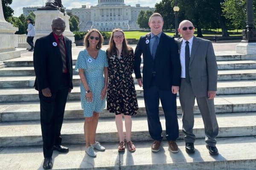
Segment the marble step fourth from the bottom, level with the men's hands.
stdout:
[[[135,85],[137,97],[143,97],[143,88]],[[224,94],[256,94],[256,81],[222,81],[218,83],[217,95]],[[38,91],[34,88],[2,88],[0,102],[38,101]],[[80,87],[75,86],[68,95],[68,100],[80,100]]]

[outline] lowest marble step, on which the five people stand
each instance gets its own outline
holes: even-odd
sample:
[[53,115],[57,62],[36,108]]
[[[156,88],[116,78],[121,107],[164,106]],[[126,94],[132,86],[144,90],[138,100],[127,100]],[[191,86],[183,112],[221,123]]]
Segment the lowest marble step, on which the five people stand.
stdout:
[[[135,142],[136,151],[117,152],[117,143],[105,143],[105,152],[97,152],[96,158],[88,156],[84,144],[67,145],[70,152],[53,152],[53,170],[255,170],[256,145],[254,137],[218,138],[218,156],[210,156],[204,139],[195,141],[195,153],[187,154],[183,140],[177,140],[180,149],[171,153],[166,141],[158,153],[151,152],[151,141]],[[238,149],[234,149],[238,148]],[[32,158],[32,159],[28,159]],[[3,170],[43,170],[41,146],[4,147],[0,150]]]

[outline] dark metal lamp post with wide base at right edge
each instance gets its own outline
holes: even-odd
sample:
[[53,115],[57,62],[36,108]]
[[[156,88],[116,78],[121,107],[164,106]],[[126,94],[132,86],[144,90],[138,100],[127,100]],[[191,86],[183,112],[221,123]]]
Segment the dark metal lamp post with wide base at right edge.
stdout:
[[243,30],[241,42],[256,42],[256,30],[253,23],[253,0],[246,0],[247,21],[246,29]]

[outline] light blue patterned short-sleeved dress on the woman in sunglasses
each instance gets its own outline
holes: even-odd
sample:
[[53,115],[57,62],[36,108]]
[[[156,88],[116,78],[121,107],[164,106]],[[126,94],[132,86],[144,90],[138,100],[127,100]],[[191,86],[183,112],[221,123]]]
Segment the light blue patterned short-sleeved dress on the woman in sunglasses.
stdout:
[[108,60],[105,51],[99,50],[98,57],[96,59],[93,59],[86,49],[79,52],[75,70],[78,72],[79,68],[84,69],[84,76],[90,91],[93,93],[93,101],[87,102],[85,99],[85,88],[81,82],[81,106],[84,109],[84,117],[91,117],[93,116],[93,111],[102,112],[105,108],[105,99],[102,100],[100,95],[104,87],[104,67],[108,67]]

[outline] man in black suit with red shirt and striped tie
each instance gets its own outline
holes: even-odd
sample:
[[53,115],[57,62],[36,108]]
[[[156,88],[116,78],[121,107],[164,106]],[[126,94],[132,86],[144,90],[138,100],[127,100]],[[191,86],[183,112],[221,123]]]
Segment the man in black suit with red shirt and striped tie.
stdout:
[[61,18],[52,20],[52,32],[35,42],[35,89],[39,91],[41,130],[44,144],[44,169],[52,168],[52,152],[67,153],[61,145],[68,92],[73,88],[71,40],[62,33],[66,28]]

